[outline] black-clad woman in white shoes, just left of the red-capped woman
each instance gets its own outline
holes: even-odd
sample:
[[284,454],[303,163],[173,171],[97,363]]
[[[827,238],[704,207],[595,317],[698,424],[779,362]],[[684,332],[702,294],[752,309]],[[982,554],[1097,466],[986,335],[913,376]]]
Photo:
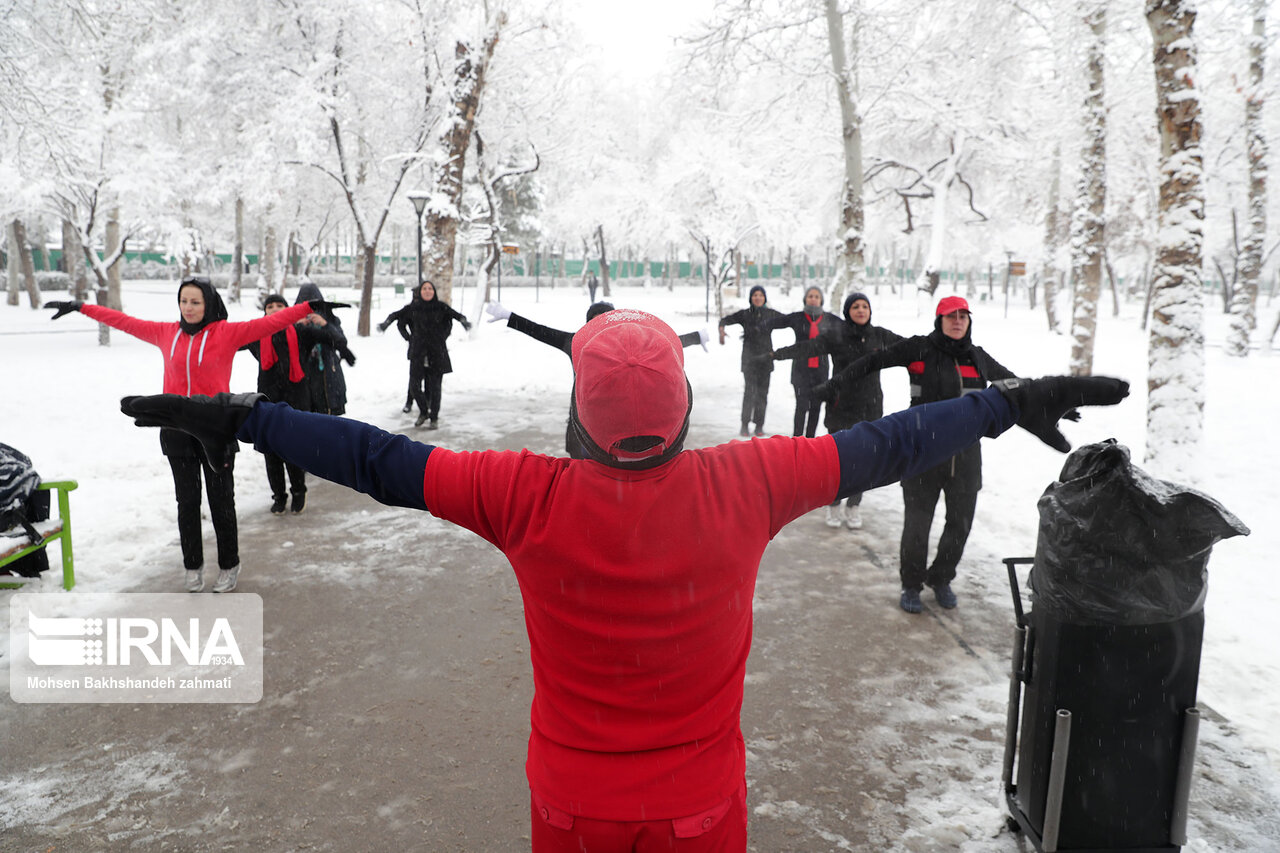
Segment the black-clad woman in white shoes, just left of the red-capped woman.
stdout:
[[[901,334],[886,328],[872,325],[872,301],[865,293],[854,292],[845,297],[842,320],[836,336],[818,336],[790,347],[782,347],[773,353],[774,359],[812,357],[826,352],[831,356],[832,375],[858,361],[865,355],[879,352],[902,339]],[[850,382],[837,397],[827,403],[827,416],[823,425],[828,433],[838,433],[864,420],[878,420],[884,416],[884,391],[879,384],[879,374],[873,373]],[[827,526],[841,524],[850,530],[863,526],[863,493],[849,496],[844,511],[840,501],[827,507]]]

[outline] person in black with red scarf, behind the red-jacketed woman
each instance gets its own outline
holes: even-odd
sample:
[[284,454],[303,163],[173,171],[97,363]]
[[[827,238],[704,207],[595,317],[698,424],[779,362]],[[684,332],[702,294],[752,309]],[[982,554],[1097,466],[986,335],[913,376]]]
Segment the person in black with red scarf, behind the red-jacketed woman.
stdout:
[[[319,291],[315,300],[321,301]],[[262,301],[262,314],[271,315],[288,306],[289,302],[283,296],[271,293]],[[271,402],[288,403],[297,411],[315,411],[306,356],[321,341],[332,342],[332,336],[330,324],[319,313],[312,313],[305,320],[270,337],[244,345],[243,348],[257,359],[257,392],[266,394]],[[284,515],[287,498],[291,498],[289,511],[294,515],[301,514],[307,506],[306,471],[297,465],[287,465],[279,456],[271,453],[264,456],[266,482],[271,487],[271,514]],[[285,473],[289,480],[288,492],[284,488]]]

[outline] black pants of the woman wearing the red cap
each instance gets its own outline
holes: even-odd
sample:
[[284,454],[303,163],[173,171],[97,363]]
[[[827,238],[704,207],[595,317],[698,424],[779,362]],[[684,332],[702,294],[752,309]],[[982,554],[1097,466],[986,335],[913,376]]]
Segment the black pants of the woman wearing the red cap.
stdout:
[[[925,569],[929,556],[929,526],[938,494],[946,501],[947,516],[938,538],[938,552]],[[899,576],[902,589],[923,589],[955,580],[973,526],[978,489],[963,476],[952,476],[948,465],[902,480],[902,544],[899,549]]]

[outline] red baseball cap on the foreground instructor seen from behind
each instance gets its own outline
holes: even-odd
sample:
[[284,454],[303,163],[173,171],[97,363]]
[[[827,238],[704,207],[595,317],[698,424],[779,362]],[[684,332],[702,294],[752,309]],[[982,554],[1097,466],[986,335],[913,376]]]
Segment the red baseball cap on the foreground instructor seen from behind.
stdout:
[[684,441],[689,380],[669,325],[644,311],[613,310],[573,334],[572,357],[577,419],[605,453],[643,460]]

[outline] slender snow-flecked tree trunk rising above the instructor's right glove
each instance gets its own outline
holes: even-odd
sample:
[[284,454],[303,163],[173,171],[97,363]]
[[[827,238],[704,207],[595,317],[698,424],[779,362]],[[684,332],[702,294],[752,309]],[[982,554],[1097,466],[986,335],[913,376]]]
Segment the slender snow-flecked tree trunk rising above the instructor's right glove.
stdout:
[[1075,280],[1071,310],[1073,377],[1093,374],[1093,337],[1098,328],[1098,293],[1102,284],[1102,252],[1107,200],[1106,54],[1107,13],[1105,1],[1082,0],[1085,35],[1085,88],[1083,105],[1084,150],[1080,152],[1080,186],[1076,193],[1071,240],[1071,278]]

